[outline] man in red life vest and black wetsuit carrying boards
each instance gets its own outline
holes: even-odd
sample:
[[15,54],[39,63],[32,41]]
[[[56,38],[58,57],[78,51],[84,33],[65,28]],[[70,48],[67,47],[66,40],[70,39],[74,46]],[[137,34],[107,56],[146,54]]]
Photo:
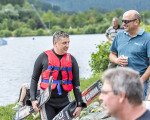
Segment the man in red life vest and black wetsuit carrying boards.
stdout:
[[76,59],[69,53],[69,35],[63,31],[53,35],[53,49],[45,51],[37,58],[31,79],[31,101],[35,111],[38,111],[36,89],[41,75],[40,87],[48,87],[49,76],[53,76],[50,100],[45,104],[45,114],[52,120],[66,105],[69,104],[68,92],[73,89],[77,101],[77,108],[73,115],[78,117],[81,112],[81,89],[79,82],[79,68]]

